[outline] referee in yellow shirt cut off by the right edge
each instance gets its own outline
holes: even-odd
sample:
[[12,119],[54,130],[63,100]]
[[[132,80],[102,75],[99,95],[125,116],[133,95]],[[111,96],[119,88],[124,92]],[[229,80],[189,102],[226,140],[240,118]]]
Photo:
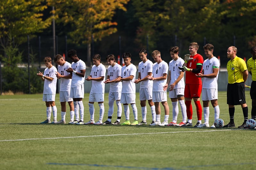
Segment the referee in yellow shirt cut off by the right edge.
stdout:
[[250,96],[252,99],[252,119],[256,119],[256,46],[251,48],[252,57],[247,61],[247,68],[252,75]]

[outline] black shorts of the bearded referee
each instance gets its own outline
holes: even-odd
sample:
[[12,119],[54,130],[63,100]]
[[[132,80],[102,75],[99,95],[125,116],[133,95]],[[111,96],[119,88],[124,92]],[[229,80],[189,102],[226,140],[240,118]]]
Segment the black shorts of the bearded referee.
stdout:
[[245,101],[245,87],[243,83],[227,84],[227,104],[241,105]]

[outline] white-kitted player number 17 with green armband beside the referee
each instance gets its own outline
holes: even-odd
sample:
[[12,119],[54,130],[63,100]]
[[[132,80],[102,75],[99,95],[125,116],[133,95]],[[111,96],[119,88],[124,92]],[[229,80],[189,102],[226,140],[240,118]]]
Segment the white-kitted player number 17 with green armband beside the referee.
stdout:
[[[218,75],[219,75],[219,60],[213,56],[213,45],[206,44],[203,46],[204,54],[208,57],[203,62],[202,73],[198,73],[197,77],[202,78],[202,100],[203,100],[203,115],[204,123],[197,126],[198,128],[209,127],[209,100],[214,108],[214,119],[219,118],[218,105]],[[215,128],[214,124],[211,128]]]

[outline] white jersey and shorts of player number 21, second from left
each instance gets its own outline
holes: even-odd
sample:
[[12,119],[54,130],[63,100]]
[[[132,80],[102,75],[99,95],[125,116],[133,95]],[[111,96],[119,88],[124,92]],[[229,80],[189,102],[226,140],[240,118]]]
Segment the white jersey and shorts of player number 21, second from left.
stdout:
[[[70,67],[71,67],[71,64],[66,61],[66,63],[64,65],[58,65],[58,72],[62,76],[68,76],[68,75],[70,75],[70,73],[67,72],[66,70]],[[63,92],[70,91],[70,85],[71,85],[71,79],[70,78],[61,78],[60,91],[63,91]]]

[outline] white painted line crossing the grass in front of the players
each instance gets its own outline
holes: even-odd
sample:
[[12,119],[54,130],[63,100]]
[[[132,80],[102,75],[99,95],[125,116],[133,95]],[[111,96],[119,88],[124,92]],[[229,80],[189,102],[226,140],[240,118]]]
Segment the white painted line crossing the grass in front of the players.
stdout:
[[[93,136],[78,136],[78,137],[110,137],[110,136],[125,136],[125,135],[167,134],[167,133],[216,132],[216,131],[227,131],[227,130],[242,130],[242,129],[218,129],[218,130],[216,129],[216,130],[202,130],[202,131],[131,133],[131,134],[93,135]],[[10,139],[10,140],[0,140],[0,142],[24,141],[24,140],[45,140],[45,139],[67,139],[67,138],[78,138],[78,137],[51,137],[51,138],[49,137],[49,138],[30,138],[30,139]]]

